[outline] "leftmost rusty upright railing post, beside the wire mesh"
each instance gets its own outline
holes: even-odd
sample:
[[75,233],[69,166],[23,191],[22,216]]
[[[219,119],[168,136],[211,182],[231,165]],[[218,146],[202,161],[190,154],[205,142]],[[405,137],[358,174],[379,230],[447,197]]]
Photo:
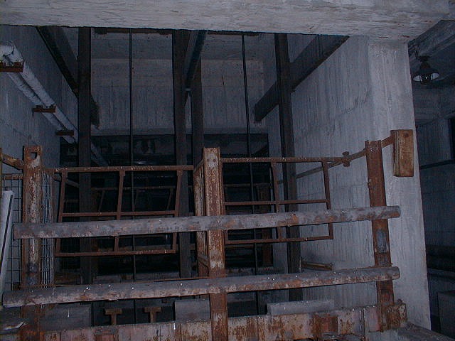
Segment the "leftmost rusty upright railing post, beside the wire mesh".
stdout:
[[[24,223],[41,222],[41,201],[43,197],[41,170],[41,146],[28,146],[23,151],[23,208]],[[23,239],[21,276],[23,287],[34,287],[41,284],[41,239]],[[21,330],[21,340],[38,340],[39,306],[24,307],[23,316],[30,322]]]

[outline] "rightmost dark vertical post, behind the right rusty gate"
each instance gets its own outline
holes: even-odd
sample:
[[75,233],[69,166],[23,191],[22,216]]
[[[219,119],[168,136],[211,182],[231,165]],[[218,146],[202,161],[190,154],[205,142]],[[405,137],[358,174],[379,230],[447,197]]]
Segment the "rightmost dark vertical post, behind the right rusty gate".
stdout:
[[[291,71],[287,45],[287,35],[275,34],[275,57],[277,59],[277,88],[279,108],[279,133],[282,144],[282,157],[295,156],[294,130],[292,126],[291,102]],[[283,163],[284,200],[296,200],[296,165]],[[287,211],[296,211],[297,205],[287,205]],[[300,235],[299,227],[288,227],[287,237],[297,238]],[[300,243],[287,244],[287,267],[289,273],[301,272]],[[303,298],[301,290],[289,291],[291,301],[300,301]]]

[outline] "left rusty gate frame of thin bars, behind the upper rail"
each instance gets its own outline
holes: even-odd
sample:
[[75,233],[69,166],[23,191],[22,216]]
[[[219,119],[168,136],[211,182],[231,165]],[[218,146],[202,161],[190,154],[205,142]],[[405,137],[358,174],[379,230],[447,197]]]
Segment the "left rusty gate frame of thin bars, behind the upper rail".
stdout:
[[[65,217],[111,217],[115,220],[121,220],[122,217],[151,217],[151,216],[171,216],[177,217],[180,205],[181,181],[184,172],[192,171],[193,166],[107,166],[107,167],[70,167],[70,168],[48,168],[48,171],[60,173],[60,202],[58,209],[58,222],[63,222]],[[171,171],[176,172],[177,183],[175,187],[176,201],[173,210],[164,211],[122,211],[122,199],[124,187],[124,177],[127,172],[157,172],[157,171]],[[68,179],[69,173],[118,173],[119,185],[117,188],[92,188],[92,190],[101,190],[102,197],[104,197],[105,190],[117,190],[117,210],[113,212],[63,212],[65,208],[65,188],[66,185],[73,185],[78,187],[77,183]],[[171,198],[173,196],[172,186],[143,186],[141,189],[168,189],[168,205],[171,205]],[[132,188],[129,188],[132,190]],[[136,189],[136,188],[134,188]],[[100,207],[101,208],[101,204]],[[176,254],[177,252],[177,234],[172,234],[172,242],[170,248],[156,248],[147,250],[121,250],[119,249],[119,237],[114,237],[114,248],[108,251],[77,251],[77,252],[63,252],[61,250],[61,239],[55,240],[55,256],[56,257],[78,257],[78,256],[128,256],[128,255],[145,255],[145,254]]]

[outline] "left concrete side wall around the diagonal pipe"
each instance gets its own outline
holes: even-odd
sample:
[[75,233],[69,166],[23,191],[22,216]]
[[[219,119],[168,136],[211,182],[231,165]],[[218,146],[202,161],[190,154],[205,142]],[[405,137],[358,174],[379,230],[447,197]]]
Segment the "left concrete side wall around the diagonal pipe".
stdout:
[[[50,97],[77,124],[75,97],[36,29],[0,26],[0,40],[11,40],[16,45]],[[4,153],[22,158],[23,146],[41,145],[45,166],[58,166],[60,146],[55,129],[50,128],[50,123],[43,115],[32,113],[33,104],[4,72],[0,73],[0,89],[0,146]]]

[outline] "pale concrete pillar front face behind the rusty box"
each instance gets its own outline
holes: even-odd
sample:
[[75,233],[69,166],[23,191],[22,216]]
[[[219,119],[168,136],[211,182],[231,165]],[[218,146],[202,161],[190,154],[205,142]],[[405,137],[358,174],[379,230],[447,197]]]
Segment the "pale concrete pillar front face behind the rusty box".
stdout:
[[[406,43],[368,41],[374,138],[383,139],[390,129],[415,129],[409,58]],[[414,134],[415,136],[415,134]],[[389,151],[390,154],[390,151]],[[399,220],[390,220],[392,263],[400,268],[395,298],[407,304],[410,321],[429,328],[429,298],[425,256],[422,197],[417,145],[414,140],[413,178],[392,175],[392,158],[384,158],[388,205],[400,205]]]

